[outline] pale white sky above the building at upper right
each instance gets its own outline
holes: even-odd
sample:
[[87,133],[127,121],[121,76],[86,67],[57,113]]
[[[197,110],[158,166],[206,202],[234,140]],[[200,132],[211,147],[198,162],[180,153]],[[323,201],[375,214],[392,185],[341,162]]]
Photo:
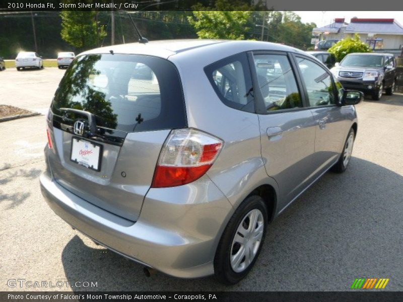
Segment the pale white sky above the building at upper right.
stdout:
[[358,18],[394,18],[403,26],[403,12],[294,12],[301,17],[301,22],[314,22],[318,27],[330,24],[334,18],[346,18],[346,22],[350,23],[353,17]]

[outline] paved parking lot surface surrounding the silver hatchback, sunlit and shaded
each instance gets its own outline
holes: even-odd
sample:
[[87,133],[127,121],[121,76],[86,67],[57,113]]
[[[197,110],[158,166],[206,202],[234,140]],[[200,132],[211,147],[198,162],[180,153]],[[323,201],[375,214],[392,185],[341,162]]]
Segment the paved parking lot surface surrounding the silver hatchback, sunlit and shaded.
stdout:
[[[57,68],[0,72],[0,104],[46,112],[64,73]],[[344,174],[326,173],[271,223],[260,257],[239,284],[159,273],[96,246],[47,206],[45,117],[0,123],[0,290],[10,279],[97,282],[51,290],[350,290],[355,278],[390,278],[403,290],[403,95],[357,105],[353,158]]]

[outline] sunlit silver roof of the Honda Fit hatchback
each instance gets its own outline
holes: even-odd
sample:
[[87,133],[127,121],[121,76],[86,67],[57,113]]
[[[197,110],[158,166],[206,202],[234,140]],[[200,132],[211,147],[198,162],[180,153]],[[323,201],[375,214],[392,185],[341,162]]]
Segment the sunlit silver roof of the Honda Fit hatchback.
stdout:
[[235,40],[205,40],[205,39],[188,39],[188,40],[161,40],[151,41],[148,43],[128,43],[120,45],[111,45],[101,48],[95,48],[85,51],[82,54],[97,54],[97,53],[113,53],[120,54],[145,54],[168,58],[179,54],[200,53],[206,50],[208,52],[215,50],[218,53],[222,50],[232,49],[234,53],[239,53],[248,50],[277,50],[277,51],[292,51],[304,53],[302,50],[270,42],[260,41],[235,41]]

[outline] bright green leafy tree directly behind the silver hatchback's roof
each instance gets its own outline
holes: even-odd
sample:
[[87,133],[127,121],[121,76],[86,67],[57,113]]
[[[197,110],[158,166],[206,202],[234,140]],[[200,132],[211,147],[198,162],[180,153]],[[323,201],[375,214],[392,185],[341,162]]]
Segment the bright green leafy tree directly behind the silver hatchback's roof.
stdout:
[[251,18],[248,11],[194,11],[188,21],[201,39],[245,39],[246,24]]

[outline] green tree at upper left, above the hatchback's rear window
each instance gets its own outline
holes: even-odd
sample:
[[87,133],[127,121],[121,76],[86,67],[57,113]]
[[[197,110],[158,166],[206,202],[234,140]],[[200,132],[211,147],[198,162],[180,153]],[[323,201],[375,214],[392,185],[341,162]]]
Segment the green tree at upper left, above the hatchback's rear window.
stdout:
[[106,32],[95,21],[96,14],[97,12],[93,11],[61,12],[61,38],[80,49],[98,46],[99,40],[106,36]]

